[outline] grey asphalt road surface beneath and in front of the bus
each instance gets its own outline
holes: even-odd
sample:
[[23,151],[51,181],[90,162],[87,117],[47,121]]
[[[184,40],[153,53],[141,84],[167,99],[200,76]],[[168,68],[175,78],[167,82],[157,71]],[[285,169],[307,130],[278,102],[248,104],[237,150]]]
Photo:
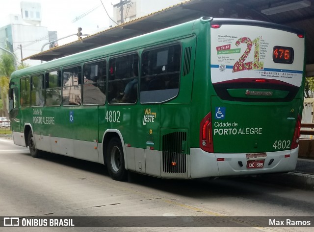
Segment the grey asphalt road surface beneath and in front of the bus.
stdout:
[[[27,148],[0,138],[0,216],[135,217],[132,220],[141,220],[137,218],[140,216],[196,218],[201,220],[198,227],[202,225],[202,217],[227,217],[224,228],[214,227],[215,224],[201,228],[169,228],[158,224],[159,227],[148,228],[136,227],[138,224],[135,223],[134,227],[124,228],[0,227],[0,231],[303,232],[312,231],[314,221],[311,222],[312,228],[266,227],[262,219],[314,216],[314,191],[262,183],[255,178],[186,181],[131,173],[128,182],[117,182],[111,180],[101,164],[55,154],[35,159]],[[260,217],[261,223],[257,220],[252,224],[252,216]]]

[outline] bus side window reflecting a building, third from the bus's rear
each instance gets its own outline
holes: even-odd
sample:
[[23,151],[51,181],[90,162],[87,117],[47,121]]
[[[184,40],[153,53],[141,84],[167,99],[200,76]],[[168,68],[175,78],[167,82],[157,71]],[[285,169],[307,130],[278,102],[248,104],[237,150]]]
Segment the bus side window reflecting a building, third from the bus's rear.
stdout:
[[83,71],[83,104],[105,104],[106,61],[85,64]]

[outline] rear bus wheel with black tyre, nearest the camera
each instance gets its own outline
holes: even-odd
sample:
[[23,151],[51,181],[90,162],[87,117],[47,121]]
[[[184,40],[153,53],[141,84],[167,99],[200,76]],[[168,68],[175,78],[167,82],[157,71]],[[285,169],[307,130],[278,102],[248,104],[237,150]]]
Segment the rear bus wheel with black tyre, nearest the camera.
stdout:
[[123,149],[118,138],[112,138],[108,143],[106,164],[109,175],[115,181],[127,179],[127,170],[124,167]]

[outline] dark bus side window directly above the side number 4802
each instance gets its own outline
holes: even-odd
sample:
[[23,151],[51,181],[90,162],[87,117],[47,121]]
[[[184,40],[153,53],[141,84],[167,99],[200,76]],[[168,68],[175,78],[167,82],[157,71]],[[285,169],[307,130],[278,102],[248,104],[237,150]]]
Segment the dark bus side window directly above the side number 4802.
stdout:
[[135,103],[138,86],[138,54],[109,60],[108,102]]

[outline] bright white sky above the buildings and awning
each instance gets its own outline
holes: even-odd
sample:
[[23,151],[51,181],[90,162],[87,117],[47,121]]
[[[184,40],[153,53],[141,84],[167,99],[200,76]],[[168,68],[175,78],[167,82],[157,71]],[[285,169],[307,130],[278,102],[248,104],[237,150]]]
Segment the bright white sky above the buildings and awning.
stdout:
[[[0,27],[4,26],[4,17],[9,14],[21,15],[20,2],[22,0],[0,0]],[[105,12],[107,10],[110,17],[113,15],[112,4],[120,0],[25,0],[41,3],[42,22],[41,26],[47,26],[48,30],[56,30],[58,38],[66,37],[77,33],[78,27],[82,28],[83,34],[94,34],[109,27],[109,17]],[[89,14],[87,14],[90,12]],[[81,19],[77,18],[83,16]],[[64,44],[77,40],[76,36],[59,41],[58,44]]]

